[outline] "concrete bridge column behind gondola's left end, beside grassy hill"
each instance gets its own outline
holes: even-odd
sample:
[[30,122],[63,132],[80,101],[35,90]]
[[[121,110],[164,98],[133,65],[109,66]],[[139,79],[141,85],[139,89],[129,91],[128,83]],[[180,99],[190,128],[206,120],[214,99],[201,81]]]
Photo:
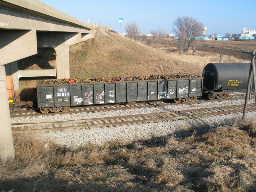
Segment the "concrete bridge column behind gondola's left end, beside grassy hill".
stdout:
[[69,47],[55,47],[56,52],[56,77],[57,79],[69,78]]

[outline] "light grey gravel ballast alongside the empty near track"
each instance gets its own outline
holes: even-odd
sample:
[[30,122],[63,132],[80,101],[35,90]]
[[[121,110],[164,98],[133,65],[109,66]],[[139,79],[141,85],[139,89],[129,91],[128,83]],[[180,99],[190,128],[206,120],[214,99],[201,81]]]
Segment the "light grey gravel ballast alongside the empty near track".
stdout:
[[[255,100],[251,100],[250,103],[254,103]],[[66,120],[78,120],[78,119],[91,119],[91,118],[103,118],[108,116],[124,116],[124,115],[136,115],[136,114],[148,114],[156,112],[168,112],[179,111],[188,109],[200,109],[200,108],[212,108],[218,106],[229,105],[242,105],[244,100],[232,100],[232,101],[218,101],[218,102],[205,102],[194,103],[187,105],[166,105],[164,107],[152,107],[152,108],[139,108],[139,109],[125,109],[125,110],[112,110],[101,111],[95,113],[73,113],[73,114],[57,114],[48,116],[36,116],[36,117],[16,117],[11,119],[11,123],[40,123],[51,121],[66,121]],[[232,113],[226,115],[211,115],[196,118],[185,118],[182,120],[166,121],[159,123],[139,123],[132,125],[111,126],[111,127],[93,127],[90,129],[74,129],[64,130],[56,132],[38,132],[32,133],[36,135],[38,139],[45,141],[53,141],[68,148],[79,148],[87,143],[93,143],[95,145],[104,145],[108,142],[116,142],[118,144],[130,144],[133,141],[148,140],[152,137],[162,137],[169,134],[173,134],[182,129],[187,130],[190,128],[196,129],[198,126],[216,127],[217,125],[233,124],[236,120],[241,120],[242,113]],[[248,119],[255,119],[256,112],[248,111]]]

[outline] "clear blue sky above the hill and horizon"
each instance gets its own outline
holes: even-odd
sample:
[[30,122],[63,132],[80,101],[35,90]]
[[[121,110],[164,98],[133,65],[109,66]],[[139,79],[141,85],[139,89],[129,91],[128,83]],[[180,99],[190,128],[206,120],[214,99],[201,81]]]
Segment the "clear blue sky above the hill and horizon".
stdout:
[[118,18],[123,18],[121,33],[127,22],[136,21],[141,33],[163,28],[172,32],[179,16],[193,17],[207,27],[206,35],[241,33],[243,28],[256,29],[256,0],[41,0],[83,22],[101,23],[119,33]]

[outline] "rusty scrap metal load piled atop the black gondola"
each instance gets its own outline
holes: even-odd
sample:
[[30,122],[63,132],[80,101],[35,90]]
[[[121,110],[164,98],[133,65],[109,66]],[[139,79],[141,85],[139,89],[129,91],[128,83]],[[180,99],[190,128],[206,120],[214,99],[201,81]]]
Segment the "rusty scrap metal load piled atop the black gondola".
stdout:
[[49,79],[39,81],[38,85],[54,85],[54,84],[83,84],[83,83],[99,83],[99,82],[118,82],[118,81],[139,81],[139,80],[155,80],[155,79],[180,79],[180,78],[195,78],[196,75],[191,74],[172,74],[172,75],[145,75],[145,76],[127,76],[127,77],[112,77],[112,78],[72,78],[72,79]]

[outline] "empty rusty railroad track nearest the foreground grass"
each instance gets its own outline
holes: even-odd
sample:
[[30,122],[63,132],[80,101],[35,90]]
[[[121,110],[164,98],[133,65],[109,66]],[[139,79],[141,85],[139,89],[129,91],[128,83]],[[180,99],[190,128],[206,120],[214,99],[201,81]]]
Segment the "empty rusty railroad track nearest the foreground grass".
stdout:
[[[65,129],[81,129],[92,127],[109,127],[124,124],[140,124],[150,122],[161,122],[174,119],[194,118],[199,116],[220,115],[227,113],[243,112],[244,105],[221,106],[214,108],[190,109],[171,112],[159,112],[151,114],[138,114],[128,116],[114,116],[93,119],[56,121],[47,123],[21,123],[12,124],[13,133],[23,132],[47,132]],[[248,111],[256,110],[255,104],[248,105]]]

